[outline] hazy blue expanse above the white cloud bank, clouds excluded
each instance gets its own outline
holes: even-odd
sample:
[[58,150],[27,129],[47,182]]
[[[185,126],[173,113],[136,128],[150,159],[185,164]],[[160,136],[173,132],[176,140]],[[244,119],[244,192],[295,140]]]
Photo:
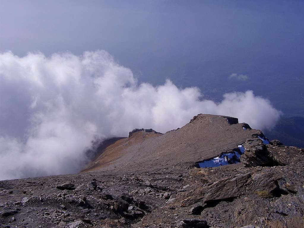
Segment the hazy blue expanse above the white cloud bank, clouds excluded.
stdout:
[[253,89],[280,109],[288,95],[302,113],[303,12],[290,0],[1,1],[0,51],[104,49],[140,81],[170,78],[214,98]]

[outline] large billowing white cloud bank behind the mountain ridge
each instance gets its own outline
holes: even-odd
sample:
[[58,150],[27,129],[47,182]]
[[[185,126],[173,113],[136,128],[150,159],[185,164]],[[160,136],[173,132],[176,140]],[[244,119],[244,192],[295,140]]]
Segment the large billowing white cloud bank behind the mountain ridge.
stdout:
[[106,51],[81,56],[0,54],[0,179],[78,172],[92,141],[134,128],[166,132],[198,113],[238,117],[257,129],[280,112],[252,91],[201,100],[198,88],[138,84]]

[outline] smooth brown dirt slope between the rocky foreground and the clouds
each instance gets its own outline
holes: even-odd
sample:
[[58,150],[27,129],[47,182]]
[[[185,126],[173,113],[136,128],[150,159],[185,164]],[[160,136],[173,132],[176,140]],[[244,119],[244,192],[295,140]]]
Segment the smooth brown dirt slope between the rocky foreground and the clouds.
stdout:
[[180,129],[165,134],[136,132],[106,148],[86,170],[138,171],[172,165],[189,168],[237,148],[254,134],[262,135],[261,131],[236,121],[226,116],[200,114]]

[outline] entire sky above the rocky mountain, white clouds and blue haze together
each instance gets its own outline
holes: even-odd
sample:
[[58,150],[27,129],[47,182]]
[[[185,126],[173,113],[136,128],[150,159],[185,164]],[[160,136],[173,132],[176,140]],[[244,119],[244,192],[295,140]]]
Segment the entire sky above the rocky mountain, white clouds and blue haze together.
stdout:
[[0,179],[78,172],[94,141],[199,113],[304,114],[303,6],[1,1]]

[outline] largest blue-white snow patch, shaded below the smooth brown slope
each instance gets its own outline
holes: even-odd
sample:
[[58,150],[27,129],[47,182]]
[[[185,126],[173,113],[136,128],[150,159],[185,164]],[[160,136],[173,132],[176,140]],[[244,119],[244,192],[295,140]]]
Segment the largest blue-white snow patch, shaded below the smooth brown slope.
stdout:
[[216,167],[221,165],[236,164],[240,162],[240,157],[245,152],[243,145],[238,145],[239,151],[222,154],[220,157],[215,157],[199,163],[200,168]]

